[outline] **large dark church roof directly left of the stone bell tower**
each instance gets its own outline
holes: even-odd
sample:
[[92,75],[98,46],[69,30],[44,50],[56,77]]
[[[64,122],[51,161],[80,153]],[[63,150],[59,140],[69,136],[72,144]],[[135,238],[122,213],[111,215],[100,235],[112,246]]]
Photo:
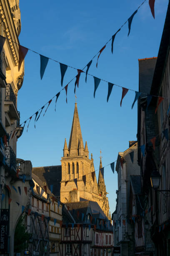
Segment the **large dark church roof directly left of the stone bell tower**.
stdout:
[[42,181],[42,186],[45,185],[43,182],[46,182],[49,190],[50,185],[53,184],[52,193],[60,198],[61,165],[33,167],[32,174],[35,174]]

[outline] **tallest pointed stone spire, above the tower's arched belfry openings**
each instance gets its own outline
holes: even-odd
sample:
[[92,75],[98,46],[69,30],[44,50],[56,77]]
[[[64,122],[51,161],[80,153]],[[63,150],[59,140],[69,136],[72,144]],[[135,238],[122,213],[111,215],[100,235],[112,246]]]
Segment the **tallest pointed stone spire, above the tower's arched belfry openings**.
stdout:
[[80,121],[77,111],[77,103],[75,103],[75,110],[74,110],[74,116],[72,120],[72,128],[70,133],[70,141],[68,145],[68,151],[70,151],[70,156],[77,156],[79,154],[79,149],[81,155],[84,153],[84,145],[82,141],[82,133],[80,128]]

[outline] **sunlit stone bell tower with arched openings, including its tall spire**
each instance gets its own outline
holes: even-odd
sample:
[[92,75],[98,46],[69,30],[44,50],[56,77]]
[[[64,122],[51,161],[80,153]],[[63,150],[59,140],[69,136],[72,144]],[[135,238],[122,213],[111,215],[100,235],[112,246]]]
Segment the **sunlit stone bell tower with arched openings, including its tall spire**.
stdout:
[[[85,147],[82,140],[80,121],[75,103],[70,141],[67,146],[65,139],[63,157],[61,158],[62,180],[60,188],[61,202],[78,202],[80,198],[92,200],[93,180],[91,172],[94,172],[93,160],[89,159],[87,141]],[[85,175],[86,184],[82,176]],[[74,179],[77,178],[77,187]]]

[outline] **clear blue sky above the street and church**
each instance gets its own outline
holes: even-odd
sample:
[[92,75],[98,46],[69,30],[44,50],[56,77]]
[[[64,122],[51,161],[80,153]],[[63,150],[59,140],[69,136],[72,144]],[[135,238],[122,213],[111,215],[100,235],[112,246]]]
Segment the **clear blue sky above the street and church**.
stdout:
[[[141,0],[20,0],[20,44],[82,69],[141,3]],[[113,84],[138,90],[138,59],[158,55],[167,7],[168,0],[155,0],[154,19],[146,1],[133,18],[130,35],[126,23],[115,37],[113,54],[110,42],[100,55],[98,67],[95,57],[89,73]],[[28,51],[25,57],[25,76],[18,92],[20,123],[62,89],[60,65],[55,61],[48,61],[44,77],[40,79],[39,54]],[[68,68],[63,87],[76,74],[75,69]],[[65,90],[62,90],[56,112],[53,100],[44,117],[41,115],[36,122],[36,128],[32,118],[28,132],[25,128],[18,139],[18,158],[30,160],[33,167],[61,164],[65,138],[67,145],[69,143],[75,107],[74,83],[75,79],[68,86],[67,103]],[[120,107],[122,88],[113,86],[108,103],[107,91],[107,83],[101,81],[94,99],[93,77],[87,76],[85,83],[85,74],[81,74],[76,90],[77,108],[84,146],[87,141],[95,170],[100,164],[100,149],[102,165],[106,166],[117,159],[118,152],[129,147],[129,141],[137,139],[137,104],[131,109],[135,92],[128,91]],[[98,179],[98,170],[96,175]],[[112,213],[116,205],[117,173],[113,174],[107,166],[104,177]]]

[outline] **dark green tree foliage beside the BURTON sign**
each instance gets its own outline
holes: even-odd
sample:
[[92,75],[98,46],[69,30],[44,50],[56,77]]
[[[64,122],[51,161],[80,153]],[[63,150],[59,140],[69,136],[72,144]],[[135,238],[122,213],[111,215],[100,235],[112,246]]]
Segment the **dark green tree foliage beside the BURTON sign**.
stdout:
[[25,243],[31,238],[31,234],[27,232],[24,216],[21,216],[18,220],[18,224],[15,228],[14,236],[14,251],[19,253],[25,249]]

